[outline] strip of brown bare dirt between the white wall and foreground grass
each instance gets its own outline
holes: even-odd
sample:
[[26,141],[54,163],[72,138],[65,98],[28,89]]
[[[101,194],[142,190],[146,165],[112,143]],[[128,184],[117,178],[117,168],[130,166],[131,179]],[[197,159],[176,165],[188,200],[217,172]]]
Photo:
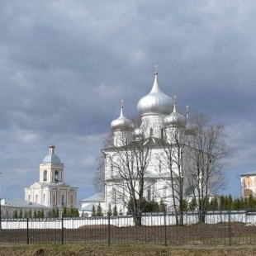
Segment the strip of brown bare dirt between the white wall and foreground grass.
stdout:
[[0,230],[1,243],[14,244],[256,244],[256,227],[242,222],[184,226],[85,225],[73,230]]

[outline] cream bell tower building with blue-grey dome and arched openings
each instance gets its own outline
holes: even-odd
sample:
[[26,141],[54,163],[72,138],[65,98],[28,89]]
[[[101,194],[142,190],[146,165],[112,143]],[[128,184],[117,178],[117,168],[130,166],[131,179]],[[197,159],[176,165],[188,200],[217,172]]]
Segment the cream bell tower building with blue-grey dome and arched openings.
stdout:
[[25,200],[48,206],[52,209],[76,208],[78,187],[64,183],[64,164],[55,154],[55,145],[50,145],[39,168],[39,182],[25,187]]

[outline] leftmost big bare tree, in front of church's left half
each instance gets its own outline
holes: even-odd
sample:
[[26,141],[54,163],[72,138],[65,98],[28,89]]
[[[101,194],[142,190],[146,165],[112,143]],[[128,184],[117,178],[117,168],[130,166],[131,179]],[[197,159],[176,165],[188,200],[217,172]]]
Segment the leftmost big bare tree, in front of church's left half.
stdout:
[[[118,140],[118,141],[116,141]],[[135,225],[141,225],[143,199],[148,180],[146,171],[151,159],[152,138],[140,130],[126,129],[106,140],[102,151],[106,161],[106,192],[111,193],[111,204],[128,207],[134,216]]]

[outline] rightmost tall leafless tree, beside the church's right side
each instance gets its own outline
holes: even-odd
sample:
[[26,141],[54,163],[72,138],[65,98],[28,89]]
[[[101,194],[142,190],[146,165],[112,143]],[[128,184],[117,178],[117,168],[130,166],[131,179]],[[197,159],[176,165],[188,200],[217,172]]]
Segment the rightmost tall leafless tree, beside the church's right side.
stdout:
[[194,135],[188,143],[190,161],[187,177],[195,201],[199,220],[205,221],[205,211],[211,195],[225,187],[223,169],[234,150],[225,143],[225,127],[211,124],[211,118],[199,114],[192,118]]

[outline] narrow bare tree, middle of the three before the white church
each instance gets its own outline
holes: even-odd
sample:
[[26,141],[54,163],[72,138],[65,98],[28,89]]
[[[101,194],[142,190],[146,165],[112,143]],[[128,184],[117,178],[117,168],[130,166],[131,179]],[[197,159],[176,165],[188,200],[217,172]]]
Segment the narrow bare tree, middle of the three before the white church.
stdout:
[[[174,111],[176,113],[176,110]],[[175,117],[175,118],[173,118]],[[178,113],[173,116],[167,126],[164,127],[164,133],[159,141],[159,149],[161,151],[160,164],[162,169],[159,170],[159,176],[162,177],[165,183],[171,190],[167,197],[171,197],[173,202],[173,211],[176,213],[176,225],[183,225],[184,189],[186,177],[184,177],[184,168],[186,162],[183,161],[184,152],[186,149],[186,123],[184,116]],[[166,200],[167,198],[163,198]]]

